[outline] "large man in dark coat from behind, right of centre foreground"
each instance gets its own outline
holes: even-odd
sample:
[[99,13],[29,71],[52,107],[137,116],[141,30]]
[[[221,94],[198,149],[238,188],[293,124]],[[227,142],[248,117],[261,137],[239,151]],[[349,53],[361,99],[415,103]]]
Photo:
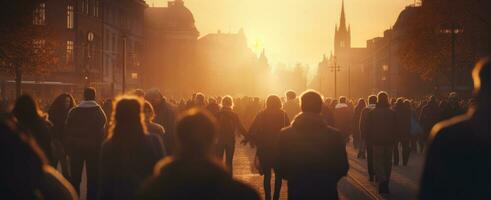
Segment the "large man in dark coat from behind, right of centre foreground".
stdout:
[[317,92],[302,95],[301,109],[278,144],[278,172],[288,180],[288,199],[338,199],[337,183],[349,168],[343,136],[322,118]]

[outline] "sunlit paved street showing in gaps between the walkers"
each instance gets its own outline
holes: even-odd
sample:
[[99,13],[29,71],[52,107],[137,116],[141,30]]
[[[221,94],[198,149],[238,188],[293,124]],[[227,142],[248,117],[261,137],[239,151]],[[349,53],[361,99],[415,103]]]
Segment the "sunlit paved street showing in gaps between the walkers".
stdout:
[[[377,187],[374,183],[368,181],[366,160],[356,158],[356,152],[348,145],[348,157],[350,161],[350,170],[348,177],[343,178],[338,185],[341,199],[382,199],[377,194]],[[234,177],[251,185],[264,197],[262,187],[263,178],[253,171],[254,150],[248,146],[237,144],[234,158]],[[418,194],[418,183],[422,170],[422,154],[411,153],[407,167],[393,167],[391,177],[391,194],[387,199],[413,200]],[[85,170],[82,178],[82,196],[85,199]],[[274,180],[274,179],[273,179]],[[271,183],[274,187],[274,183]],[[281,199],[287,199],[288,187],[285,181],[281,190]]]

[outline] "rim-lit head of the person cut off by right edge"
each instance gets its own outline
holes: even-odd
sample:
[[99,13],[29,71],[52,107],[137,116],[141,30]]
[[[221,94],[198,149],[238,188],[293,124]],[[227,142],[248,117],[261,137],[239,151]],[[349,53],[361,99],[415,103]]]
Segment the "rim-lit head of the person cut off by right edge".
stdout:
[[477,104],[489,104],[491,100],[491,59],[479,61],[472,71],[474,95]]

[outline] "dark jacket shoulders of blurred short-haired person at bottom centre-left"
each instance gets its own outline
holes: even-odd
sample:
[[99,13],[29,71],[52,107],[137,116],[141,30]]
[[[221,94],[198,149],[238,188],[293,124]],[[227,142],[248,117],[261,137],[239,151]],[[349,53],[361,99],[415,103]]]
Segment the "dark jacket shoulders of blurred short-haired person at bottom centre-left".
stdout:
[[259,200],[251,187],[232,179],[227,171],[209,160],[160,161],[144,187],[140,199]]

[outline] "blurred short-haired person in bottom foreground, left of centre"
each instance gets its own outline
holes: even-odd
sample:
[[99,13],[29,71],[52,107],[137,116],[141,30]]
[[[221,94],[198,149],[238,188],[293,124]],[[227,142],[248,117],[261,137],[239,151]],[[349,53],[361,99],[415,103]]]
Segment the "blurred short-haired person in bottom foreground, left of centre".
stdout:
[[177,124],[176,153],[156,165],[141,199],[260,199],[216,161],[216,130],[211,114],[198,109],[186,111]]

